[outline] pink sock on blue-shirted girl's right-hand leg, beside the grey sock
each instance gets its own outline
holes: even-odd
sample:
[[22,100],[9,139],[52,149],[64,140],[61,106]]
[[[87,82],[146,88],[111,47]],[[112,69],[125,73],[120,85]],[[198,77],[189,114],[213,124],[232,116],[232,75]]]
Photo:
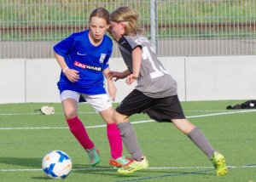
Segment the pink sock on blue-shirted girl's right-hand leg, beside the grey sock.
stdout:
[[117,159],[123,156],[123,143],[119,128],[115,123],[107,124],[107,134],[112,158]]

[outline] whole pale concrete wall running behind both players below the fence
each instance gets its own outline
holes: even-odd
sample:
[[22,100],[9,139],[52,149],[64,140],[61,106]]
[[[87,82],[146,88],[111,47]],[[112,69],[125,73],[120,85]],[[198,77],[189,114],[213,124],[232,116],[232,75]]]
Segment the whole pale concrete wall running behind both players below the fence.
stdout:
[[[160,58],[177,81],[180,100],[255,100],[256,56],[163,57]],[[121,58],[110,60],[113,71],[125,70]],[[60,67],[55,59],[0,60],[0,104],[60,102],[56,86]],[[121,101],[135,87],[116,82]]]

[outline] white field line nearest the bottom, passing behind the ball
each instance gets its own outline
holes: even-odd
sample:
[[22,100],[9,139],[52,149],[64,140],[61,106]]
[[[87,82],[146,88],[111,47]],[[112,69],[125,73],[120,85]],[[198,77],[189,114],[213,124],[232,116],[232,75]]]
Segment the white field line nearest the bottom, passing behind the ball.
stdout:
[[[151,167],[147,168],[150,170],[159,170],[159,169],[196,169],[196,168],[212,168],[207,166],[201,167]],[[228,168],[256,168],[255,165],[244,165],[244,166],[228,166]],[[73,171],[96,171],[96,170],[116,170],[114,168],[73,168]],[[9,169],[0,169],[0,172],[33,172],[33,171],[42,171],[42,168],[9,168]]]

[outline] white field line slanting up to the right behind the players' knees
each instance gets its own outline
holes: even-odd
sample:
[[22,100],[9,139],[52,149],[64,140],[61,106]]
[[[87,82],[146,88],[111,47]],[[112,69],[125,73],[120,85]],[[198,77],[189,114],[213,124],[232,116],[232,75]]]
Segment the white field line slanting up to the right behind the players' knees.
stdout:
[[[221,115],[230,115],[230,114],[237,114],[237,113],[245,113],[245,112],[254,112],[256,110],[245,110],[245,111],[229,111],[229,112],[218,112],[212,114],[204,114],[204,115],[195,115],[190,116],[187,118],[197,118],[197,117],[213,117],[213,116],[221,116]],[[138,122],[131,122],[132,124],[139,124],[144,122],[154,122],[154,120],[144,120]],[[89,126],[86,128],[103,128],[106,125],[96,125],[96,126]],[[22,128],[0,128],[0,130],[18,130],[18,129],[67,129],[67,127],[22,127]]]

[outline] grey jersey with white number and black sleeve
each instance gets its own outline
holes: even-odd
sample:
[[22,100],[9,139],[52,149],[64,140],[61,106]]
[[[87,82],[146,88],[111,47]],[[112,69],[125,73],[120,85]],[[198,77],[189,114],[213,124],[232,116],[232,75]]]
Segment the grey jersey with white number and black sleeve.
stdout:
[[177,82],[157,59],[151,43],[143,35],[125,36],[119,40],[119,49],[129,71],[132,72],[131,52],[137,47],[143,50],[143,61],[136,89],[152,98],[176,95]]

